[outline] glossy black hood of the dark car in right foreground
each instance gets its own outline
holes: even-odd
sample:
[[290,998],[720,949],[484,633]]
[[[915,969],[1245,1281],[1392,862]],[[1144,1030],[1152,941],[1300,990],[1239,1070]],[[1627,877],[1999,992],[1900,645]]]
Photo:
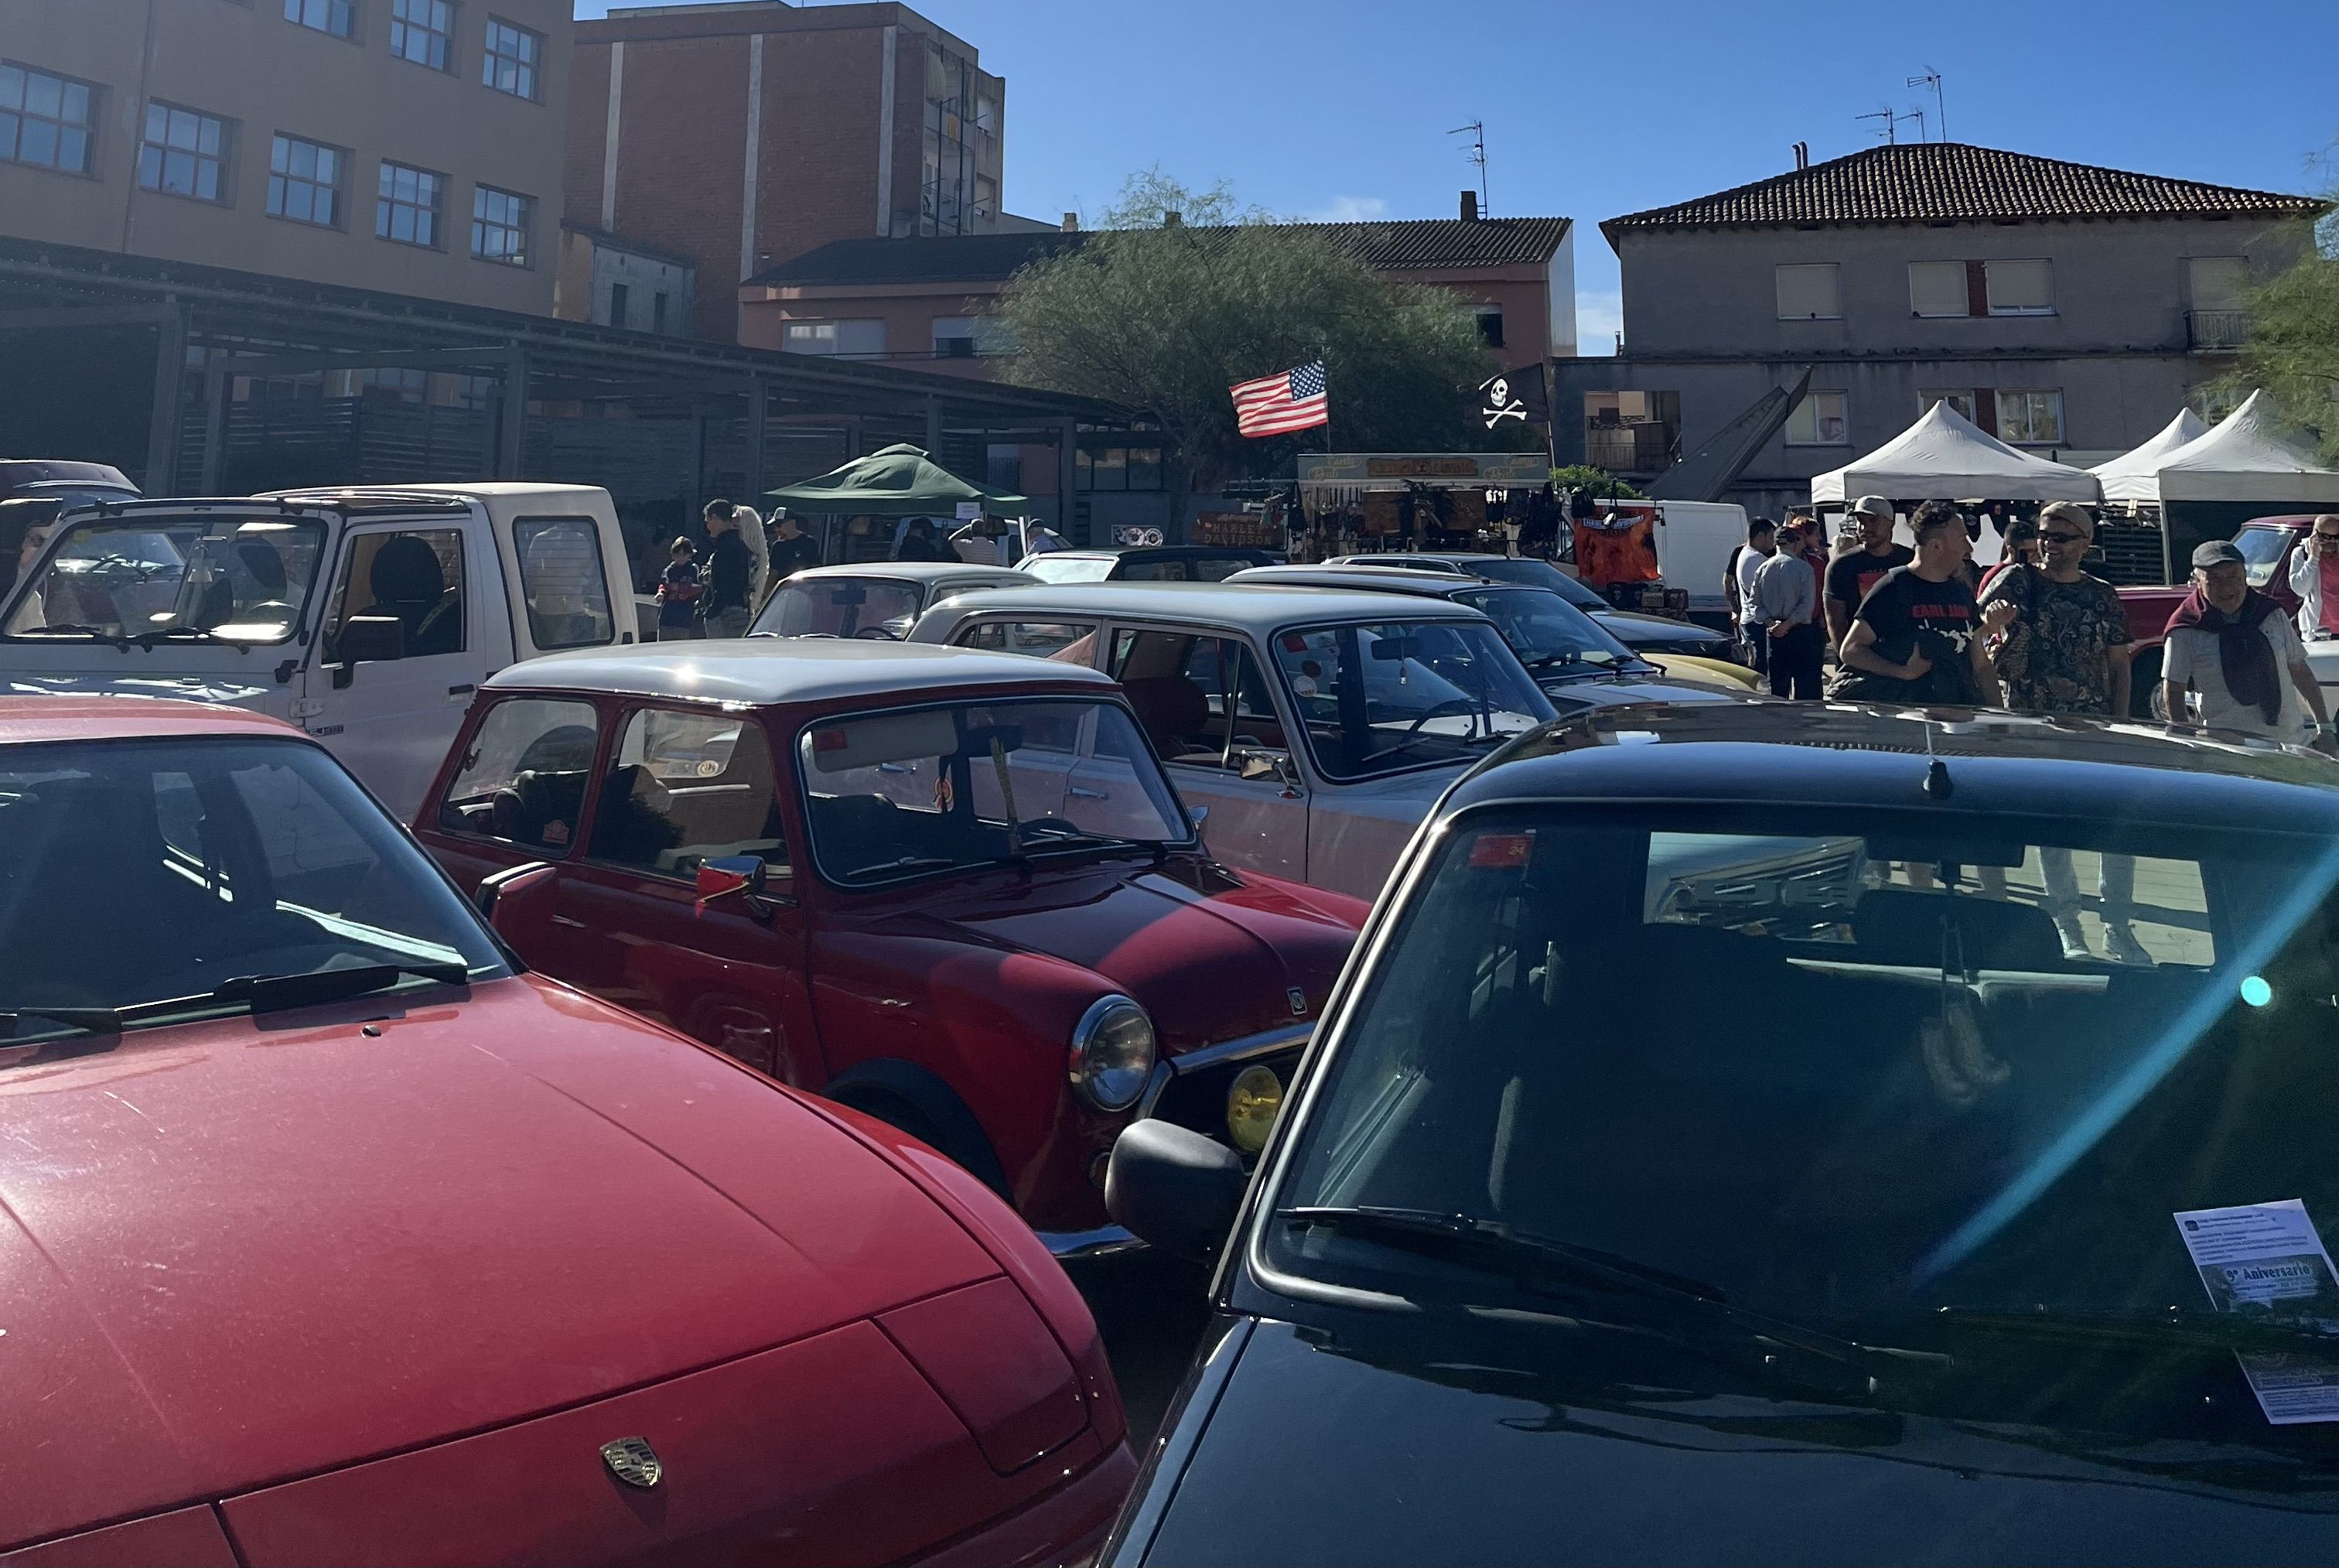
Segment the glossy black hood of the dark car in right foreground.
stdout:
[[[1401,1369],[1258,1322],[1120,1542],[1146,1563],[2334,1561],[2339,1474],[1794,1397]],[[1179,1465],[1184,1460],[1184,1465]],[[2264,1460],[2281,1463],[2281,1460]],[[2217,1479],[2213,1479],[2217,1477]],[[2220,1479],[2224,1484],[2220,1484]]]

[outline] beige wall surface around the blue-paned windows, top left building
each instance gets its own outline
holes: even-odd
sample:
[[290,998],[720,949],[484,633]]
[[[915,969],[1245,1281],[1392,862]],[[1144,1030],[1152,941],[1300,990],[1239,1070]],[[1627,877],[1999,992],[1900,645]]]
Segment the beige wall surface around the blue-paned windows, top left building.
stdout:
[[[545,35],[538,98],[482,87],[487,14]],[[0,164],[0,232],[316,283],[550,314],[561,222],[568,0],[454,12],[449,70],[391,54],[391,7],[360,5],[353,40],[283,19],[274,0],[5,0],[0,51],[98,89],[94,173]],[[229,122],[222,201],[138,187],[147,98]],[[346,152],[341,218],[267,215],[283,131]],[[444,176],[437,248],[374,236],[381,159]],[[470,255],[475,185],[536,199],[531,267]]]

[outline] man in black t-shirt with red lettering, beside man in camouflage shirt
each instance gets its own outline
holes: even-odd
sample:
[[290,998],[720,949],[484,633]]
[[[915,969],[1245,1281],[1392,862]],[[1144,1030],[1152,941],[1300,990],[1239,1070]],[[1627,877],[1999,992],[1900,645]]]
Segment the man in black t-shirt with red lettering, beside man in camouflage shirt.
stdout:
[[1888,571],[1869,590],[1843,639],[1845,669],[1864,676],[1850,695],[1911,704],[2002,704],[1981,634],[2005,627],[2014,606],[1990,606],[1990,618],[1983,620],[1965,580],[1972,552],[1974,541],[1965,536],[1958,508],[1946,501],[1918,508],[1916,562]]

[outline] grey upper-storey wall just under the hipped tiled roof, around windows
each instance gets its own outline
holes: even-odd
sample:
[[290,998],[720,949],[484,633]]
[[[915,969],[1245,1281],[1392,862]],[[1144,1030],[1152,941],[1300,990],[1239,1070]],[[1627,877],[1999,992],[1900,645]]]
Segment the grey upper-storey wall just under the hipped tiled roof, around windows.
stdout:
[[[1953,222],[1626,232],[1623,344],[1686,353],[1998,353],[2187,344],[2187,257],[2243,255],[2264,278],[2295,232],[2252,220]],[[2054,316],[1918,318],[1909,262],[2054,262]],[[1775,267],[1834,262],[1841,321],[1780,321]]]

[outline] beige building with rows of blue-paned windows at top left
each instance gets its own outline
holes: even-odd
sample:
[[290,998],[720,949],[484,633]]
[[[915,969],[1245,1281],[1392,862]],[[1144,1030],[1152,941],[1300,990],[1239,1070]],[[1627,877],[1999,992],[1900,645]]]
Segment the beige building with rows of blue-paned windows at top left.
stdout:
[[571,0],[0,9],[0,234],[552,311]]

